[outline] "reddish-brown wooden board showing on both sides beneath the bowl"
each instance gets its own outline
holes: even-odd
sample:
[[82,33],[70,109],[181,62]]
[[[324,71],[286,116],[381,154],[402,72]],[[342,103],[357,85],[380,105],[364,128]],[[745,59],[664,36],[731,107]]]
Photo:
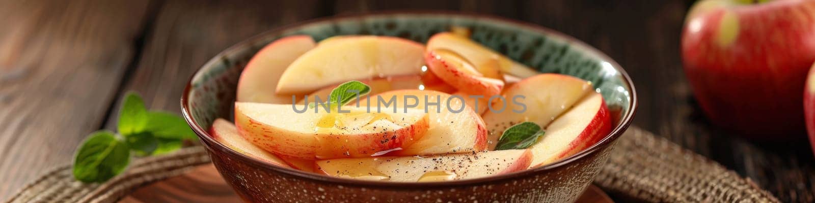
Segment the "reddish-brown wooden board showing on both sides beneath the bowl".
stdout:
[[[158,202],[240,202],[240,197],[221,178],[215,166],[207,164],[184,175],[165,179],[139,188],[120,203]],[[579,203],[614,202],[600,188],[592,185],[583,193]]]

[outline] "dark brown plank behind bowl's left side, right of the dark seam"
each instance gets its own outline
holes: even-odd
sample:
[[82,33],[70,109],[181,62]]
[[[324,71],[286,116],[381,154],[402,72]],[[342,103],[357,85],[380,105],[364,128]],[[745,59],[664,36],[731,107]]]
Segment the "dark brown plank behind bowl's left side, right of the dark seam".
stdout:
[[[178,100],[187,80],[209,58],[260,32],[319,17],[321,5],[316,0],[168,1],[124,89],[141,93],[154,110],[180,112]],[[115,128],[116,110],[108,128]]]

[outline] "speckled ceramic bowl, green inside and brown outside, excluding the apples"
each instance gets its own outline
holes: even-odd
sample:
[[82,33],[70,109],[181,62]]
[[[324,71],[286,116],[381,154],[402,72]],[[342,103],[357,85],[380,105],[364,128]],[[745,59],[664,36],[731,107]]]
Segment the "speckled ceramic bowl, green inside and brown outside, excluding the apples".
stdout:
[[[209,134],[217,118],[232,117],[240,71],[263,45],[306,34],[316,41],[337,35],[396,36],[425,42],[452,25],[470,28],[472,39],[541,72],[591,81],[614,112],[614,130],[596,145],[546,166],[436,183],[388,183],[315,175],[249,158]],[[637,97],[617,63],[593,47],[532,24],[482,15],[384,13],[318,19],[278,28],[233,45],[192,76],[181,99],[183,114],[227,183],[252,202],[572,202],[606,163],[615,140],[631,123]]]

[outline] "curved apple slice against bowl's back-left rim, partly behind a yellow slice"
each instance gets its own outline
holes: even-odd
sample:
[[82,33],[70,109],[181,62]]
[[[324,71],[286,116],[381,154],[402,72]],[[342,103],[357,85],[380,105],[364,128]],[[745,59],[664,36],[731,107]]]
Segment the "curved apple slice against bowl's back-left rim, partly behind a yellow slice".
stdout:
[[277,94],[278,79],[297,57],[315,47],[314,39],[297,35],[271,42],[255,54],[238,80],[238,102],[291,104],[291,94]]

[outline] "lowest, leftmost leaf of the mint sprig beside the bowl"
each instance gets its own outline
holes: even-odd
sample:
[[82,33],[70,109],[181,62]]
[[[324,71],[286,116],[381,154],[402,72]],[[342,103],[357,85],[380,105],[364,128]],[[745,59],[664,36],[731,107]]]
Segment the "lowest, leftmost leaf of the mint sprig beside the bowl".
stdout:
[[127,144],[113,132],[94,132],[82,141],[73,158],[73,177],[85,183],[100,183],[118,175],[130,162]]

